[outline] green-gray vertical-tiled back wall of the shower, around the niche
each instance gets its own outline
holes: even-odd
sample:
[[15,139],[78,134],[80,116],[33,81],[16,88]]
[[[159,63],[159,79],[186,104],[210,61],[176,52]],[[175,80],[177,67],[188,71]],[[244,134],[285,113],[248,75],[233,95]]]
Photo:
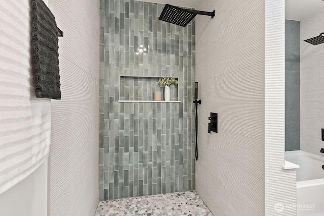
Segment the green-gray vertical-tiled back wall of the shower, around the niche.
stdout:
[[[161,22],[163,7],[100,1],[100,200],[194,189],[194,21]],[[181,103],[119,103],[120,75],[178,77]],[[145,79],[124,81],[129,98],[149,92]]]

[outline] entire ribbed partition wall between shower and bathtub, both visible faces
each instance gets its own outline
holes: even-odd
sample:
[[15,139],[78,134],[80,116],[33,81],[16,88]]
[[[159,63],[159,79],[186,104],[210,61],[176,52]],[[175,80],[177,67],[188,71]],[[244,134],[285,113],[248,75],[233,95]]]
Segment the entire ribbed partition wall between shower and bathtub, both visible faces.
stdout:
[[282,170],[285,3],[201,0],[197,10],[216,17],[196,17],[196,190],[214,215],[295,215],[296,172]]

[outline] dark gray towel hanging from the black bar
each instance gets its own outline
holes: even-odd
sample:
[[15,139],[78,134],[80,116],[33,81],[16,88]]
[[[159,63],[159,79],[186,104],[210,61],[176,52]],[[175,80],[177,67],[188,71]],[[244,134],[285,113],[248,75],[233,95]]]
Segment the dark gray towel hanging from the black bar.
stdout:
[[31,59],[36,97],[61,99],[58,30],[43,0],[31,0]]

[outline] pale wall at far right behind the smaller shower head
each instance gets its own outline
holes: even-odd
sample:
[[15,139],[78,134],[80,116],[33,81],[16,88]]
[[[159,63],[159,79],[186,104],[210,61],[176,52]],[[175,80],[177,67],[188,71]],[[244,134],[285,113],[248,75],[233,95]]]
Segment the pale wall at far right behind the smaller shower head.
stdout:
[[304,40],[323,32],[323,20],[320,13],[300,22],[300,148],[317,155],[324,148],[324,44],[314,46]]

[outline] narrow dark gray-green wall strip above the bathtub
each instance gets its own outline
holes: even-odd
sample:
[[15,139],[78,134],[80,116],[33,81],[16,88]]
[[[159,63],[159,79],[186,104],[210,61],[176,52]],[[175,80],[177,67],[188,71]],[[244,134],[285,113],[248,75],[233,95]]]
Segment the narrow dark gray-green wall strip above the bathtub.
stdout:
[[300,150],[300,21],[286,20],[286,151]]

